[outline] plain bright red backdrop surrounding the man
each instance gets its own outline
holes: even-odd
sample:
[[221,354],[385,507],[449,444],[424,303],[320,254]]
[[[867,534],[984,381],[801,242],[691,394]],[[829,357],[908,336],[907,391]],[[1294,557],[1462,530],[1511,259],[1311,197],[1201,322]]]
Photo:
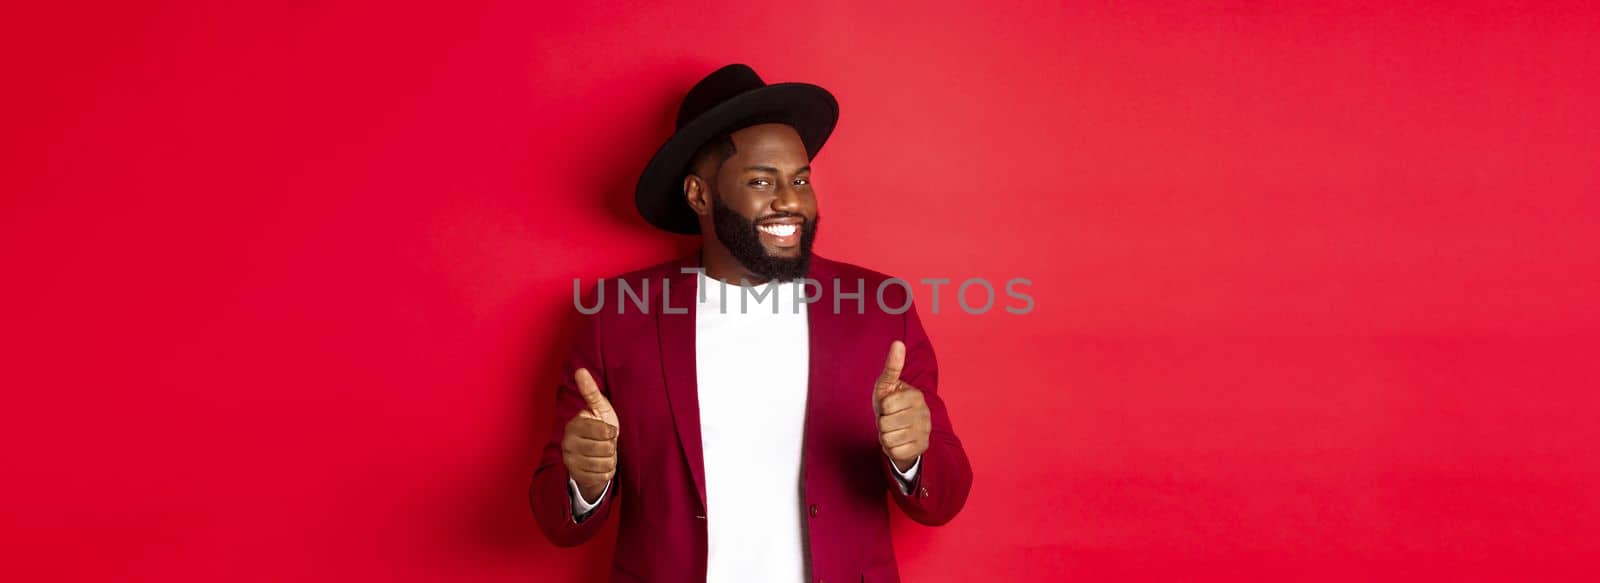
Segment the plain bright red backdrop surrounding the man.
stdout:
[[571,280],[693,245],[630,189],[731,61],[842,103],[819,251],[1034,280],[923,306],[907,580],[1592,575],[1600,11],[1298,5],[8,6],[0,575],[602,573]]

